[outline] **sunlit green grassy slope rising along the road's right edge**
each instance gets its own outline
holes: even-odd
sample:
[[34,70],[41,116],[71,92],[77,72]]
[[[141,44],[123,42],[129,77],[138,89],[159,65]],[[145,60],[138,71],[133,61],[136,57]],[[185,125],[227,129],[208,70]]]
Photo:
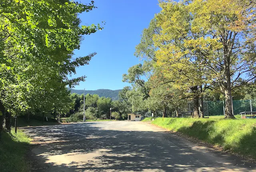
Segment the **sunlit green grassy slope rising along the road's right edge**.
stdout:
[[[148,120],[145,118],[143,121]],[[220,145],[256,159],[256,120],[222,120],[193,118],[156,118],[152,121],[168,130],[173,130]]]

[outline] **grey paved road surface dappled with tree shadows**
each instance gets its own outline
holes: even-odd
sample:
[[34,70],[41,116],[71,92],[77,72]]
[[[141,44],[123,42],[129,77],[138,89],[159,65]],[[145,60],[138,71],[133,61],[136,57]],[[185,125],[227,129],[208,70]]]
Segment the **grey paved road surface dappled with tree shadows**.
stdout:
[[35,144],[30,158],[37,172],[256,170],[254,164],[143,122],[86,122],[26,132]]

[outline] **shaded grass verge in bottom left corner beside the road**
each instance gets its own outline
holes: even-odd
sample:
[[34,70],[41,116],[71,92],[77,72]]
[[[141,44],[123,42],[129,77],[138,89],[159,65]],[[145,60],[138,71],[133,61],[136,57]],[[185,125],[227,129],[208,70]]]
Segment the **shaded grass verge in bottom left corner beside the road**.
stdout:
[[2,133],[0,142],[0,171],[1,172],[28,172],[29,164],[25,159],[28,152],[30,138],[21,130],[15,134]]

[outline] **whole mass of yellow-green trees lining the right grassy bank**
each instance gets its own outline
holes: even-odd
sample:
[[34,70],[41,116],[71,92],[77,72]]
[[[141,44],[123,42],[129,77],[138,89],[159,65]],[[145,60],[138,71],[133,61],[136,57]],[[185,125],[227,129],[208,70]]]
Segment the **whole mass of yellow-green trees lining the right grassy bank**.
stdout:
[[255,82],[256,4],[166,0],[159,5],[162,10],[135,48],[142,64],[123,75],[124,82],[132,83],[126,93],[132,111],[158,109],[165,114],[166,108],[183,109],[192,101],[193,116],[203,117],[204,96],[210,92],[225,100],[226,118],[234,118],[232,94]]

